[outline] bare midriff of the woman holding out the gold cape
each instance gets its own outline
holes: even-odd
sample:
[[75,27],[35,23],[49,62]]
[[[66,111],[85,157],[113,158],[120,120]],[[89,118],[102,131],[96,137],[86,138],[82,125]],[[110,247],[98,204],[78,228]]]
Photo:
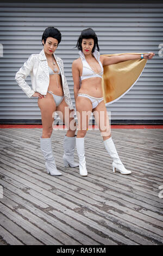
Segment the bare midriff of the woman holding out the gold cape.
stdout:
[[102,79],[92,77],[83,80],[78,93],[85,93],[93,97],[103,97]]

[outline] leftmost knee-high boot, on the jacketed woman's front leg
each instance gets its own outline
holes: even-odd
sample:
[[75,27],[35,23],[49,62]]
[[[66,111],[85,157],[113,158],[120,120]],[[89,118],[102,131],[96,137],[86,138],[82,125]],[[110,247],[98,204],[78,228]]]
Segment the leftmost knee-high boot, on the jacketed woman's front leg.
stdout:
[[52,152],[52,143],[51,138],[42,138],[40,137],[40,147],[43,153],[43,156],[45,157],[45,166],[47,173],[50,173],[51,175],[59,176],[62,175],[55,165],[55,159]]

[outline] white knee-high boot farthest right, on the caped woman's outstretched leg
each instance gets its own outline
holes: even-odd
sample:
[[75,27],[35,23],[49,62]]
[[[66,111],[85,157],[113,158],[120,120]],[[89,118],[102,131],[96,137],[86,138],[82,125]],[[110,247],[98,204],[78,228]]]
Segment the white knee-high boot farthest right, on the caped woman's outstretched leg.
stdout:
[[121,174],[130,174],[130,170],[127,170],[123,163],[120,160],[120,157],[118,156],[117,150],[115,148],[114,142],[112,141],[112,138],[106,139],[104,141],[105,149],[108,151],[109,155],[112,157],[112,169],[113,172],[116,172],[116,169],[120,170]]

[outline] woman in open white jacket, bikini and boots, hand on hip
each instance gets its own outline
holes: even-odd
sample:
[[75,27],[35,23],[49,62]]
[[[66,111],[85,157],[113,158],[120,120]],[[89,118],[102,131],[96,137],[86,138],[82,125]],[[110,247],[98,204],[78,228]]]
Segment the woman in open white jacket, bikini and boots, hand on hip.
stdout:
[[[76,144],[76,123],[73,118],[70,118],[73,106],[64,75],[64,64],[62,59],[54,54],[60,41],[61,33],[57,28],[46,28],[42,35],[43,50],[39,54],[32,54],[15,76],[16,82],[29,98],[38,97],[43,127],[40,146],[46,160],[47,173],[51,175],[61,175],[55,165],[51,145],[55,111],[68,129],[64,138],[63,160],[65,167],[68,165],[77,167],[79,165],[74,162],[73,158]],[[25,81],[29,74],[32,80],[32,88]],[[73,125],[70,127],[72,123]]]

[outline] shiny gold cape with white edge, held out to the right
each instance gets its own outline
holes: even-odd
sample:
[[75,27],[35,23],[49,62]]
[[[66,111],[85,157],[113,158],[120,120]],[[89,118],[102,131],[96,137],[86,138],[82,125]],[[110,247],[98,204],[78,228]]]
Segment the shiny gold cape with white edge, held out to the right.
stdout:
[[[102,54],[102,56],[116,56],[122,54],[146,54],[146,53],[117,53]],[[104,66],[102,77],[102,89],[104,102],[109,105],[119,100],[134,86],[139,79],[148,59],[132,59],[116,64]]]

